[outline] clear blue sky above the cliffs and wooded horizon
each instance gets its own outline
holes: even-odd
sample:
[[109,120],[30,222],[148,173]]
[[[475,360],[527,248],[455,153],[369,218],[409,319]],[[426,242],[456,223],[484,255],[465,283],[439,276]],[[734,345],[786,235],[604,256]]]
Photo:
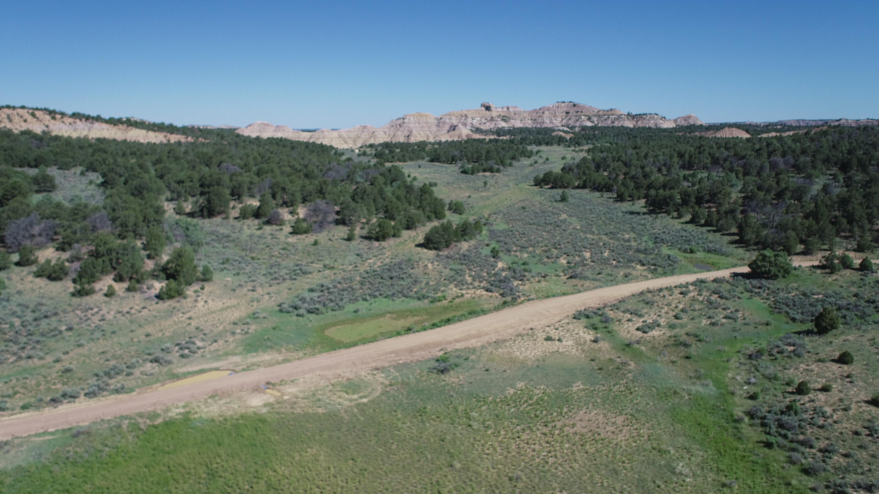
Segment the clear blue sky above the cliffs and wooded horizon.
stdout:
[[4,2],[0,104],[381,126],[483,101],[879,117],[879,2]]

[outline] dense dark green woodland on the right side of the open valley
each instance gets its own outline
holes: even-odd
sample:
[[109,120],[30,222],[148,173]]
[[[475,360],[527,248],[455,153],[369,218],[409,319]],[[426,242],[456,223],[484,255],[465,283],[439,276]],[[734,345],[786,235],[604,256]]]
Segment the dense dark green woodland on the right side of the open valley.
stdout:
[[534,184],[645,200],[652,213],[689,215],[696,224],[737,231],[745,245],[788,254],[801,244],[806,252],[832,248],[843,235],[854,238],[858,250],[874,247],[879,128],[752,139],[614,132],[590,156],[535,177]]

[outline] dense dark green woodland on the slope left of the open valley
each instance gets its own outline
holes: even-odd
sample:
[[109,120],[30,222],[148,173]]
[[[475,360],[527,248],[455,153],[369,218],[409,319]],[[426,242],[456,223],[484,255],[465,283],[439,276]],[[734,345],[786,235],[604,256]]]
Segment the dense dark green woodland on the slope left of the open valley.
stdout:
[[[280,207],[320,203],[326,205],[323,213],[331,214],[305,218],[312,228],[319,224],[317,229],[337,220],[351,225],[372,222],[375,217],[411,229],[446,215],[445,202],[429,185],[415,185],[415,178],[399,167],[342,159],[341,151],[331,146],[251,138],[229,130],[71,116],[197,139],[162,144],[90,141],[0,129],[0,232],[5,250],[18,251],[25,244],[43,247],[55,241],[60,250],[67,251],[77,243],[93,243],[103,231],[120,239],[147,238],[151,244],[148,237],[155,240],[155,232],[162,229],[165,200],[178,200],[178,213],[211,217],[228,214],[231,200],[258,197],[259,206],[243,207],[241,217],[273,224],[283,221]],[[56,186],[45,171],[50,166],[62,170],[83,166],[98,172],[103,178],[104,204],[67,205],[49,196],[34,201],[34,193]],[[40,172],[29,175],[20,170],[24,167],[40,168]],[[187,201],[193,207],[187,208]]]

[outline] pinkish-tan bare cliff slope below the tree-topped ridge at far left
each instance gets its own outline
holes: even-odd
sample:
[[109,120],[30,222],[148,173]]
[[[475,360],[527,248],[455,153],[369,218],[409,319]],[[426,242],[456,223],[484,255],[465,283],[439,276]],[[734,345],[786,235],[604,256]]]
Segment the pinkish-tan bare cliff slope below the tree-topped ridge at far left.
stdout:
[[36,133],[89,139],[114,139],[134,142],[188,142],[192,137],[165,132],[155,132],[125,125],[110,125],[94,120],[75,119],[60,113],[48,113],[29,108],[0,108],[0,127],[15,132],[32,130]]

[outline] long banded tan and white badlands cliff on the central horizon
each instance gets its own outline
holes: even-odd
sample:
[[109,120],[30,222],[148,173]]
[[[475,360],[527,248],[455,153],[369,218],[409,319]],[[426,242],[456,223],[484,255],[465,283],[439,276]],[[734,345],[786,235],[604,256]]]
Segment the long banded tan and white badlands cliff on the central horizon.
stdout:
[[678,127],[705,125],[695,115],[668,120],[655,113],[631,114],[617,109],[599,110],[594,106],[561,102],[522,110],[518,106],[483,103],[476,110],[459,110],[439,117],[430,113],[410,113],[382,127],[357,126],[340,130],[303,132],[264,121],[236,130],[252,137],[283,137],[295,141],[319,142],[337,148],[360,148],[377,142],[458,141],[483,137],[477,132],[501,127]]

